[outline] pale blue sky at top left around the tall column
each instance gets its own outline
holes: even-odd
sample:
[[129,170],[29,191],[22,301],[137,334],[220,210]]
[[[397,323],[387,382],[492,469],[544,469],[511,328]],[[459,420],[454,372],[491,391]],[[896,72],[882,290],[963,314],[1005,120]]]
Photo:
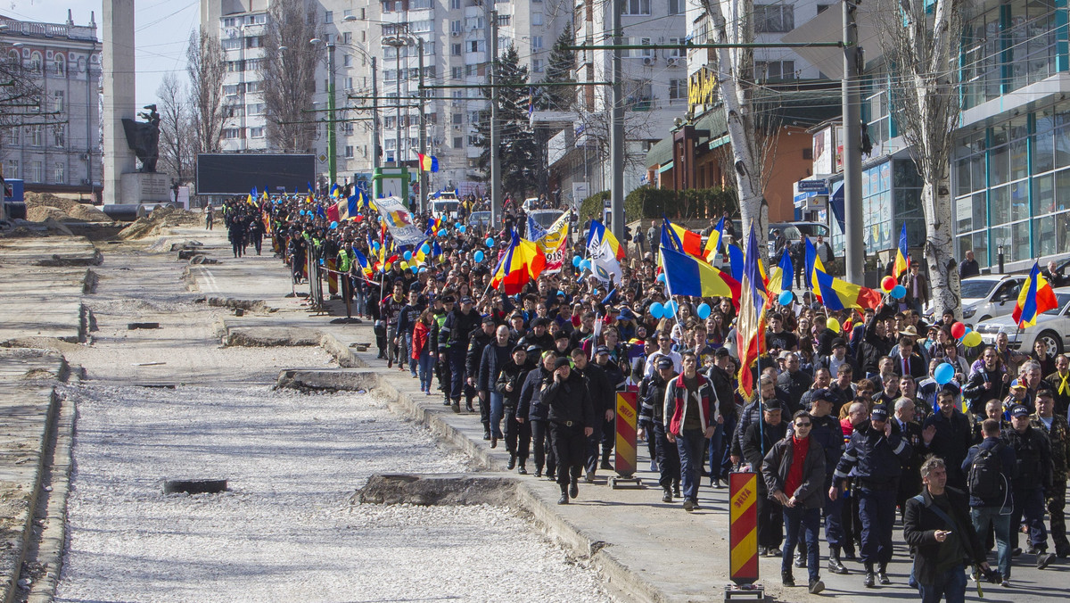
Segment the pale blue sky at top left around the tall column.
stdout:
[[[19,20],[62,24],[68,9],[75,25],[89,25],[90,13],[95,13],[96,36],[102,37],[102,0],[0,0],[0,14]],[[156,101],[164,74],[177,72],[186,81],[186,41],[199,24],[198,0],[135,0],[139,108]]]

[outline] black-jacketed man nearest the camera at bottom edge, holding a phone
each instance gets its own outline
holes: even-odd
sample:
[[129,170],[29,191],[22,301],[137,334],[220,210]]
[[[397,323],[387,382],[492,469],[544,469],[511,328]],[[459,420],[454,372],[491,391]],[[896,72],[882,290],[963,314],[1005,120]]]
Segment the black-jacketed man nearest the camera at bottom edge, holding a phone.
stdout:
[[[914,578],[921,600],[937,603],[966,597],[965,563],[992,575],[977,532],[966,514],[966,495],[947,487],[947,469],[938,456],[921,465],[924,489],[906,501],[903,537],[914,554]],[[992,579],[992,578],[990,578]]]

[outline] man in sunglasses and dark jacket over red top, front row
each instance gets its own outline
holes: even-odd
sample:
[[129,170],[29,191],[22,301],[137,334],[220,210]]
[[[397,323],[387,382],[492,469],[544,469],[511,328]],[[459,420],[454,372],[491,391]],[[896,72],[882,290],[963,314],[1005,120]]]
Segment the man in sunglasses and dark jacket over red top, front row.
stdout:
[[817,533],[821,530],[821,508],[825,503],[825,451],[810,437],[813,418],[799,410],[792,418],[792,433],[773,444],[762,463],[762,478],[769,498],[783,507],[788,537],[780,561],[780,577],[784,586],[795,586],[792,557],[798,543],[799,526],[806,530],[807,571],[810,592],[825,590],[817,564]]

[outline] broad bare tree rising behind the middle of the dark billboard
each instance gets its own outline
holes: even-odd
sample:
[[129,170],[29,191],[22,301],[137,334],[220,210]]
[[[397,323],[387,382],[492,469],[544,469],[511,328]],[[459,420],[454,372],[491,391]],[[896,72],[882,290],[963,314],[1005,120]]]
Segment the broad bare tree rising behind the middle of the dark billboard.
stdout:
[[[316,4],[304,0],[277,0],[268,11],[264,57],[260,62],[266,114],[268,144],[284,151],[311,149],[316,122],[325,115],[309,112],[316,94],[316,69],[324,45],[308,43],[322,37]],[[285,47],[285,50],[279,50]]]

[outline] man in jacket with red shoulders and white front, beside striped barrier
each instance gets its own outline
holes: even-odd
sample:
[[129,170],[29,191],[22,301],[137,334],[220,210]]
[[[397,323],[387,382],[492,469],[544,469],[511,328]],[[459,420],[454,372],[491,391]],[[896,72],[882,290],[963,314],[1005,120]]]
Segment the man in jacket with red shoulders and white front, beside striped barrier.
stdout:
[[698,373],[699,360],[691,350],[681,360],[684,373],[669,382],[666,391],[666,438],[679,451],[681,484],[684,510],[699,508],[699,482],[702,480],[702,452],[713,437],[717,423],[717,393],[705,375]]

